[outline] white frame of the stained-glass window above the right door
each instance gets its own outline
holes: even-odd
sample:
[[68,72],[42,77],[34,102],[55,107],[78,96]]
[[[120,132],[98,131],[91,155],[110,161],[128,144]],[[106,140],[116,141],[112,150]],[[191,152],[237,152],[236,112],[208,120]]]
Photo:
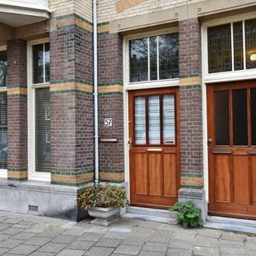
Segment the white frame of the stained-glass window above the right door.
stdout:
[[[234,67],[232,68],[232,71],[229,72],[216,72],[216,73],[209,73],[208,68],[208,35],[207,35],[207,29],[209,26],[219,26],[224,25],[227,23],[235,23],[237,21],[242,21],[243,26],[243,38],[245,44],[245,33],[244,33],[244,21],[245,20],[251,20],[256,18],[256,12],[251,12],[248,14],[240,14],[240,15],[234,15],[230,17],[225,18],[219,18],[215,20],[209,20],[204,23],[202,23],[202,69],[203,69],[203,80],[206,84],[211,83],[218,83],[218,82],[224,82],[224,81],[240,81],[240,80],[249,80],[249,79],[255,79],[255,69],[246,69],[245,67],[245,51],[244,51],[244,69],[242,70],[234,70]],[[234,59],[233,56],[233,26],[231,26],[231,54],[232,54],[232,62]],[[244,45],[245,47],[245,45]]]

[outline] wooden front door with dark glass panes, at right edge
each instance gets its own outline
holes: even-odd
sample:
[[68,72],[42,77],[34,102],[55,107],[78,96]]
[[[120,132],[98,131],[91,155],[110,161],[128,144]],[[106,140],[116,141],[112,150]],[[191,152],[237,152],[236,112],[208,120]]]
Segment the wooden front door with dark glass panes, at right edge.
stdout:
[[256,81],[207,86],[209,215],[256,219]]

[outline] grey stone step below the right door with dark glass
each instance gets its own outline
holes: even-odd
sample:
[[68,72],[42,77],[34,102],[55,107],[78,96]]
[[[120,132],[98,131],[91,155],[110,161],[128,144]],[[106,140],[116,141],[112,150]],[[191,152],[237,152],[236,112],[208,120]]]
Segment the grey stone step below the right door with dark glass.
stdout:
[[206,223],[203,224],[203,227],[256,234],[256,221],[241,218],[207,216]]

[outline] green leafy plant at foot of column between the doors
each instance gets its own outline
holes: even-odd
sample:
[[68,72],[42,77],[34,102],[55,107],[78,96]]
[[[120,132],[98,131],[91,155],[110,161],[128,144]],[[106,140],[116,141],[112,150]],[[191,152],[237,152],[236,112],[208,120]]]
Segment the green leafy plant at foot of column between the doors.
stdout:
[[198,227],[202,226],[204,221],[200,218],[201,209],[194,208],[192,201],[178,202],[172,206],[169,211],[178,210],[178,223],[183,227]]

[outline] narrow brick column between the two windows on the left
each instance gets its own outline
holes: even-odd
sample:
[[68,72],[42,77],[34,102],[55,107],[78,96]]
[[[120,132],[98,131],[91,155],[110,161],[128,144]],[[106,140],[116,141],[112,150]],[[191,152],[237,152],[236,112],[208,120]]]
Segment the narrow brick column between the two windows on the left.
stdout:
[[28,178],[26,41],[8,41],[8,180]]

